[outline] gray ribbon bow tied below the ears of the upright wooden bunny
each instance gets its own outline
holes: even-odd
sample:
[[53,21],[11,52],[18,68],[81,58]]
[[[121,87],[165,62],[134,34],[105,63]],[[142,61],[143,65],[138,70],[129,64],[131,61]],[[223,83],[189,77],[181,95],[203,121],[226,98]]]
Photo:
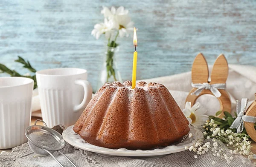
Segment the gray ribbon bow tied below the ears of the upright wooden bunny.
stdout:
[[224,83],[222,83],[222,84],[212,84],[212,85],[209,84],[209,83],[202,83],[202,84],[193,84],[193,83],[191,83],[191,85],[192,85],[193,88],[198,88],[193,93],[191,93],[191,95],[195,94],[196,96],[198,96],[204,89],[206,89],[206,90],[210,90],[215,97],[220,97],[221,92],[218,89],[225,89],[226,88],[226,84],[224,84]]

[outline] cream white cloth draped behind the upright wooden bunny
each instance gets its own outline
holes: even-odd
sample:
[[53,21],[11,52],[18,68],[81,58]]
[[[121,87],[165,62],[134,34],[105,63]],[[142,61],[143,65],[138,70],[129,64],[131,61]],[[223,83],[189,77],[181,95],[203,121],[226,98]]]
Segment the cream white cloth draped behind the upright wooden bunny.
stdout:
[[[209,72],[212,66],[209,66]],[[181,109],[185,107],[186,96],[191,91],[191,72],[181,73],[172,76],[162,76],[152,79],[143,79],[145,82],[161,83],[168,88],[172,96],[177,101]],[[256,67],[248,65],[229,65],[229,75],[227,78],[226,90],[230,95],[232,104],[232,114],[236,111],[236,100],[248,98],[248,106],[255,100],[256,93]],[[202,95],[198,98],[205,109],[207,115],[215,115],[220,110],[219,101],[215,96]]]

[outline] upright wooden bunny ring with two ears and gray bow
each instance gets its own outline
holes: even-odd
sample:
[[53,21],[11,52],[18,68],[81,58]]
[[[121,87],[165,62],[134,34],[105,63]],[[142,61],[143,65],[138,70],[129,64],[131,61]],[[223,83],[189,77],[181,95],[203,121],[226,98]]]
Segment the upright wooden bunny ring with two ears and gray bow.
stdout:
[[[219,55],[215,60],[212,68],[211,80],[209,81],[209,70],[207,61],[202,53],[199,53],[192,65],[192,90],[186,98],[186,102],[191,102],[191,106],[195,104],[196,99],[204,94],[216,96],[220,102],[220,110],[231,112],[231,102],[226,88],[226,80],[228,76],[227,59],[223,54]],[[218,117],[224,115],[222,112]]]

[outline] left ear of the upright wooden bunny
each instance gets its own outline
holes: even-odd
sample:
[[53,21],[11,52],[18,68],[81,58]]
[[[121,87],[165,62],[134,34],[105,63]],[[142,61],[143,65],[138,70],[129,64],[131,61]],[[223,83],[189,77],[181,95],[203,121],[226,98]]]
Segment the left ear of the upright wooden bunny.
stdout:
[[208,65],[204,55],[199,53],[192,65],[192,82],[195,83],[207,83],[209,77]]

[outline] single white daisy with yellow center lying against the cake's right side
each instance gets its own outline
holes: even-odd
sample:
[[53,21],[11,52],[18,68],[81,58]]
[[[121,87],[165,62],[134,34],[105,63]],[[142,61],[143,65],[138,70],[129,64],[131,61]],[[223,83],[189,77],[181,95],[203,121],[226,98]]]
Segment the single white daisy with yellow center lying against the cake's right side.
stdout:
[[200,129],[204,122],[209,119],[208,116],[205,115],[206,112],[207,110],[204,110],[199,102],[195,103],[192,107],[191,102],[186,102],[186,106],[183,109],[183,113],[189,123]]

